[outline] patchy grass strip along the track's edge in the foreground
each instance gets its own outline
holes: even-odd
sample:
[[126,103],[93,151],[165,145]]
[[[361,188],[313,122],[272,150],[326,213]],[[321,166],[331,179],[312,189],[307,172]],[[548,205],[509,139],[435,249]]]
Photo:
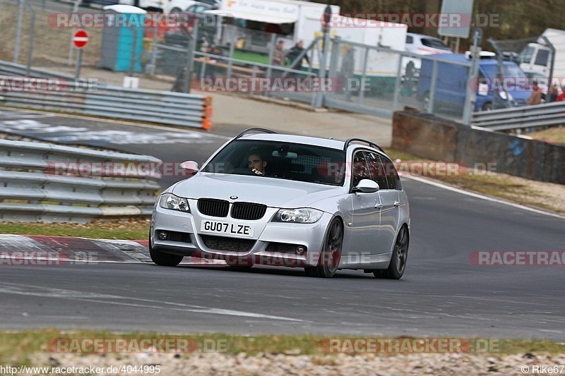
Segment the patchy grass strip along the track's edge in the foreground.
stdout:
[[[446,337],[442,337],[446,338]],[[59,339],[59,342],[57,340]],[[202,348],[214,352],[222,352],[231,355],[246,353],[249,356],[258,353],[283,353],[287,355],[310,355],[323,356],[326,354],[336,354],[338,351],[328,352],[330,340],[350,339],[351,336],[314,336],[314,335],[260,335],[260,336],[242,336],[233,334],[186,334],[171,335],[159,333],[141,333],[133,332],[126,334],[114,334],[111,332],[97,332],[83,330],[78,332],[61,332],[57,329],[40,329],[25,332],[0,332],[0,358],[4,360],[4,364],[11,365],[31,365],[35,353],[49,353],[57,351],[57,343],[63,343],[61,340],[66,339],[182,339],[188,340],[190,344],[189,353],[200,352]],[[365,339],[381,339],[392,340],[400,339],[401,341],[410,340],[409,337],[359,337]],[[465,342],[465,339],[453,339]],[[515,353],[549,353],[561,354],[565,353],[565,344],[558,344],[552,341],[530,341],[524,339],[469,339],[471,344],[489,343],[492,347],[489,351],[470,351],[469,353],[477,355],[506,355]],[[72,341],[68,342],[71,344]],[[78,341],[76,344],[80,343]],[[138,341],[135,342],[136,344]],[[179,342],[174,342],[179,343]],[[340,343],[346,344],[347,341]],[[208,344],[204,346],[204,344]],[[210,346],[210,344],[214,344]],[[69,347],[64,348],[68,349]],[[342,347],[345,348],[345,347]],[[124,351],[126,352],[126,351]],[[174,351],[171,351],[174,352]],[[397,353],[379,353],[379,355],[396,355]],[[398,352],[401,353],[401,352]],[[82,353],[83,356],[97,355],[97,353]]]

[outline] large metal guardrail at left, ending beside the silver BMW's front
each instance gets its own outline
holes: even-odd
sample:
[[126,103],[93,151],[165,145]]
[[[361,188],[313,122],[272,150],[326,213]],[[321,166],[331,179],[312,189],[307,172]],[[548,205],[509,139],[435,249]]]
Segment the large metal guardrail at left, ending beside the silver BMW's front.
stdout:
[[160,159],[0,140],[0,222],[90,222],[148,216]]

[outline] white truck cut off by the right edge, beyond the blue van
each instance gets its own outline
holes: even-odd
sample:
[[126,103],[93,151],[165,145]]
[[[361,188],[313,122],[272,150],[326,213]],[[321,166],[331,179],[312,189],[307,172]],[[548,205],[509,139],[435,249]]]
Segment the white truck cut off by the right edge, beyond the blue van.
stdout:
[[[561,87],[565,84],[565,30],[547,29],[542,36],[547,37],[555,49],[552,81]],[[549,78],[552,54],[542,38],[524,47],[518,61],[520,68],[531,78]]]

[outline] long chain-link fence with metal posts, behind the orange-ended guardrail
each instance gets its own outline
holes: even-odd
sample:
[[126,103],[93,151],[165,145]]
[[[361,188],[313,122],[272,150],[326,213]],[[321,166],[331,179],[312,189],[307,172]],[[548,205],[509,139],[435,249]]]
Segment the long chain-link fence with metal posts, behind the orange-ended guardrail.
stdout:
[[[4,0],[0,6],[0,32],[4,40],[13,41],[18,4]],[[200,24],[197,18],[165,26],[143,20],[154,20],[155,13],[127,15],[125,23],[112,23],[109,11],[68,8],[54,12],[34,7],[32,66],[73,74],[76,50],[71,35],[88,26],[85,20],[93,20],[94,25],[86,28],[89,40],[83,49],[83,68],[100,77],[106,77],[101,68],[112,72],[117,85],[124,77],[136,75],[159,81],[160,89],[179,92],[266,95],[381,116],[391,116],[405,106],[456,120],[463,116],[470,59],[417,56],[327,36],[327,43],[319,36],[304,41],[302,49],[288,30]],[[96,23],[100,12],[106,17]],[[26,60],[29,18],[24,12],[20,63]],[[13,61],[13,43],[1,44],[0,59]]]

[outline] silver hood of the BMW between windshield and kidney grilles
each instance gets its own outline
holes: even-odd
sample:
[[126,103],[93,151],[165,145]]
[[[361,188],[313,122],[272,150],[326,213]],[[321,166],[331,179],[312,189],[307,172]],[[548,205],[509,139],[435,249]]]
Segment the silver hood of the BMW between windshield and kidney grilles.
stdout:
[[343,187],[288,181],[266,176],[200,173],[181,181],[172,193],[184,198],[217,198],[256,202],[269,207],[308,207],[314,202],[343,194]]

